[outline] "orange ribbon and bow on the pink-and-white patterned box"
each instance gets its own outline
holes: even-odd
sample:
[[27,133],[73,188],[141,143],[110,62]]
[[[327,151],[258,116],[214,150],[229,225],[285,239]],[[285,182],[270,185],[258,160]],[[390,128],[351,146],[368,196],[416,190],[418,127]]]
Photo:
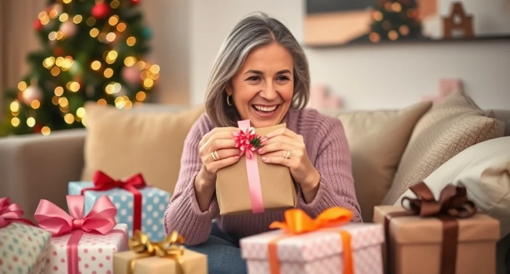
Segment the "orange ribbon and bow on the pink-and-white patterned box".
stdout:
[[[320,213],[317,218],[311,218],[302,209],[293,208],[286,210],[284,213],[285,222],[273,222],[269,225],[271,229],[282,229],[286,234],[281,237],[277,237],[269,242],[268,246],[268,257],[269,257],[269,268],[271,274],[279,274],[280,265],[277,256],[276,244],[279,240],[284,238],[299,235],[303,233],[313,232],[320,229],[331,228],[339,226],[341,224],[348,223],[352,220],[352,211],[341,208],[332,207],[324,210]],[[352,249],[351,249],[351,237],[350,233],[344,230],[339,231],[340,238],[342,239],[343,245],[343,259],[344,259],[344,272],[343,274],[353,274],[354,267],[352,264]]]

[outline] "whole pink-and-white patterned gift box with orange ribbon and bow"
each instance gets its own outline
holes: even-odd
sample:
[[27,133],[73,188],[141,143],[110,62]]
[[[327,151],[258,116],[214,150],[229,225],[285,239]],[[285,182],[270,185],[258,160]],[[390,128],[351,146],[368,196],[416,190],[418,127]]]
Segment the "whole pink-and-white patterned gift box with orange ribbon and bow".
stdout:
[[312,220],[301,209],[285,212],[280,228],[242,238],[250,274],[382,274],[380,224],[348,224],[352,212],[333,207]]

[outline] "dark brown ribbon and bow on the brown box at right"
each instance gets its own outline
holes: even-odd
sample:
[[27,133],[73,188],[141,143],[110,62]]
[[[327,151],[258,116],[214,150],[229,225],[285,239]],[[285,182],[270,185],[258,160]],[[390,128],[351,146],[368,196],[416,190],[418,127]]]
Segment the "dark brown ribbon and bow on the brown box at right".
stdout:
[[[384,220],[386,237],[386,254],[390,258],[390,220],[392,217],[418,215],[420,217],[437,217],[443,223],[443,242],[441,246],[441,274],[455,274],[457,258],[458,223],[457,218],[471,217],[476,213],[475,204],[467,197],[466,187],[448,184],[441,190],[439,200],[435,200],[432,192],[424,182],[410,187],[416,199],[402,198],[401,205],[406,211],[393,212]],[[404,202],[409,202],[409,207]],[[388,259],[386,273],[389,274],[394,258]]]

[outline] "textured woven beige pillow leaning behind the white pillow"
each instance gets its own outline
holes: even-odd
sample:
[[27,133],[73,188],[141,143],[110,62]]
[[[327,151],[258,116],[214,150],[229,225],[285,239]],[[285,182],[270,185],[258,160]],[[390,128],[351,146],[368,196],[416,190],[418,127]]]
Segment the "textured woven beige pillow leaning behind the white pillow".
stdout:
[[492,117],[462,91],[433,105],[416,124],[382,204],[394,204],[410,186],[466,148],[503,136],[504,123]]

